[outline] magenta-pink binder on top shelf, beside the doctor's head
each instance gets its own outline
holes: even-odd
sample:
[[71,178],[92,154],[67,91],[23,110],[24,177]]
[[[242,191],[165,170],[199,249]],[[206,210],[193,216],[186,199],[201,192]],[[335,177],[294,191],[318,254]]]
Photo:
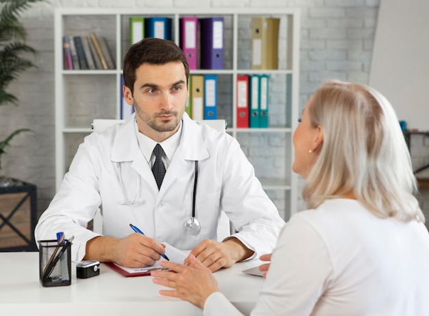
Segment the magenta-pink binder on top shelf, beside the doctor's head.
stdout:
[[184,16],[180,19],[180,48],[186,55],[189,69],[197,69],[197,29],[196,16]]

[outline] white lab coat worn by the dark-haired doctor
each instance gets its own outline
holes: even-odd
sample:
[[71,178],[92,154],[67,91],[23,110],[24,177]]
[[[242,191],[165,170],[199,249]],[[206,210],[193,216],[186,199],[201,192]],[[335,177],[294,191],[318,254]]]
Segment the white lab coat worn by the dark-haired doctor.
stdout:
[[[254,168],[235,138],[183,117],[182,136],[158,191],[154,175],[138,147],[134,115],[122,125],[86,136],[60,190],[42,214],[36,241],[55,239],[56,232],[75,236],[72,260],[82,260],[86,241],[96,234],[86,229],[97,208],[103,215],[103,234],[125,237],[130,223],[157,241],[191,250],[204,239],[217,239],[217,223],[224,210],[238,230],[234,234],[252,258],[271,252],[284,221],[262,190]],[[195,160],[199,162],[195,217],[199,234],[186,233],[184,223],[192,215]],[[129,200],[123,204],[119,177]]]

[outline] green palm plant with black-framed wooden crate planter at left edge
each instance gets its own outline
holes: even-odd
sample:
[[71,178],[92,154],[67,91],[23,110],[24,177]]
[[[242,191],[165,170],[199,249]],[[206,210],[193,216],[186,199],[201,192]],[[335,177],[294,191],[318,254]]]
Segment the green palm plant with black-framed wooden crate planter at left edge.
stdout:
[[[34,55],[36,51],[25,43],[27,32],[19,17],[40,1],[44,0],[0,0],[0,106],[18,105],[18,98],[6,89],[20,73],[36,66],[25,57],[25,53]],[[0,139],[0,171],[5,147],[15,136],[29,131],[20,128]],[[34,250],[36,186],[1,175],[0,206],[0,251]]]

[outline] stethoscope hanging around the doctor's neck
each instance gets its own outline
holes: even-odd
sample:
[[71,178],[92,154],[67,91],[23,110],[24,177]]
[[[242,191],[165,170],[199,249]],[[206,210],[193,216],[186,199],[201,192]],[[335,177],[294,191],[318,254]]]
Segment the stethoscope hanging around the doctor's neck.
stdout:
[[[140,175],[137,175],[137,184],[136,184],[136,192],[134,193],[134,199],[130,201],[127,195],[125,194],[125,190],[123,189],[121,162],[117,162],[117,164],[119,169],[119,184],[121,184],[121,191],[123,195],[123,201],[121,202],[121,204],[125,204],[125,205],[136,204],[138,189],[140,188]],[[197,196],[197,180],[198,180],[198,161],[195,160],[194,190],[193,190],[193,196],[192,196],[192,217],[190,217],[185,222],[185,230],[188,234],[191,234],[191,235],[198,234],[199,231],[201,230],[201,224],[199,223],[198,219],[195,217],[195,199]]]

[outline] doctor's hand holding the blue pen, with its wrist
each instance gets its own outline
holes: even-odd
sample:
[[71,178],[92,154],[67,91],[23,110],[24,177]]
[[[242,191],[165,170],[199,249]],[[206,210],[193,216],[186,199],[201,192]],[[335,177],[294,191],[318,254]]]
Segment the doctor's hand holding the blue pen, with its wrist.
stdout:
[[112,262],[123,267],[147,267],[160,260],[165,245],[143,234],[133,233],[118,239],[98,236],[86,243],[86,260]]

